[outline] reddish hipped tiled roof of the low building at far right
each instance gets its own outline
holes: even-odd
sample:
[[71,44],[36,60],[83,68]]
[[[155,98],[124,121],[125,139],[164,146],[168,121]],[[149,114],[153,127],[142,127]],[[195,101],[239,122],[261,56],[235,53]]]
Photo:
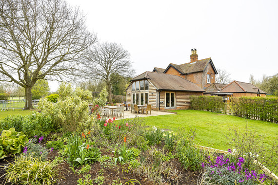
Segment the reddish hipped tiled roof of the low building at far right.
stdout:
[[255,85],[246,82],[238,82],[234,80],[230,84],[226,85],[220,92],[249,92],[249,93],[262,93],[266,94],[266,92],[262,91]]

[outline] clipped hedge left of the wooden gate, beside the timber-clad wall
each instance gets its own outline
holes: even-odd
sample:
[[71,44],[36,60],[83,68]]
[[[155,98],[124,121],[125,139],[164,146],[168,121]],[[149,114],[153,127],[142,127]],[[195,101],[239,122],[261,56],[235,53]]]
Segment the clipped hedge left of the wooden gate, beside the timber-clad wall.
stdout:
[[190,96],[191,108],[201,111],[222,111],[225,103],[220,96]]

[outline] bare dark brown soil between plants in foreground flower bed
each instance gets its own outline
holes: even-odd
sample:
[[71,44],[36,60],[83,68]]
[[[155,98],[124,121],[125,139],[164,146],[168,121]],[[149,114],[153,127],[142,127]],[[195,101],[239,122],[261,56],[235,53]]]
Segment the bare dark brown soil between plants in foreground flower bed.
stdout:
[[[46,143],[46,140],[50,139],[47,137],[42,144]],[[107,152],[105,148],[101,149],[102,155],[110,155],[113,156],[113,153]],[[54,150],[53,152],[49,153],[48,159],[52,160],[56,156],[58,156],[58,150]],[[0,166],[7,165],[8,163],[13,163],[14,157],[9,156],[5,159],[0,160]],[[180,178],[178,180],[170,180],[167,183],[164,183],[165,185],[197,185],[197,180],[200,172],[196,171],[187,171],[185,170],[181,164],[179,163],[178,159],[172,159],[171,164],[173,166],[173,169],[178,170],[179,174],[181,174]],[[153,181],[148,179],[146,176],[139,176],[138,174],[132,172],[130,170],[128,173],[124,170],[127,169],[128,164],[125,164],[123,166],[117,165],[114,167],[103,167],[100,166],[99,162],[95,162],[91,164],[92,168],[91,170],[86,173],[90,174],[92,177],[91,179],[95,179],[98,176],[98,172],[100,169],[103,169],[102,176],[104,177],[105,181],[103,185],[113,185],[114,180],[118,180],[118,182],[121,182],[122,185],[125,185],[125,183],[129,182],[132,179],[138,180],[139,183],[134,183],[134,185],[155,185]],[[83,177],[83,174],[77,174],[70,169],[70,165],[65,161],[62,164],[60,164],[60,177],[59,180],[55,185],[77,185],[78,179]],[[77,168],[76,171],[81,169],[81,167]],[[4,185],[4,174],[5,170],[3,168],[0,168],[0,185]],[[84,179],[84,178],[83,178]],[[10,185],[10,184],[6,184]],[[97,185],[94,183],[94,185]],[[127,183],[127,185],[133,185],[132,183]]]

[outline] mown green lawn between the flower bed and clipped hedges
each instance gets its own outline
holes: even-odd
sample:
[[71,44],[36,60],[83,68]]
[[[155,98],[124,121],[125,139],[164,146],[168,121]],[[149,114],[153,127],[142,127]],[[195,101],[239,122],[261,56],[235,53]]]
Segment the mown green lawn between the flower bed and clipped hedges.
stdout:
[[179,131],[196,128],[195,143],[201,146],[212,146],[213,148],[227,150],[227,134],[229,128],[245,130],[248,127],[257,130],[264,137],[264,141],[272,140],[278,136],[278,124],[244,119],[232,115],[218,114],[207,111],[178,110],[177,114],[145,117],[147,126],[156,126],[159,129],[171,129]]

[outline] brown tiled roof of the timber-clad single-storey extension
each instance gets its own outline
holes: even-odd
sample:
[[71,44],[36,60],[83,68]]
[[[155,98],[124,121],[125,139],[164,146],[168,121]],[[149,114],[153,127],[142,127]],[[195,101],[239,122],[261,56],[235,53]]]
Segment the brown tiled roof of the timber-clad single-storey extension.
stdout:
[[149,79],[159,90],[203,92],[199,86],[178,75],[145,72],[131,79],[131,81],[141,79]]

